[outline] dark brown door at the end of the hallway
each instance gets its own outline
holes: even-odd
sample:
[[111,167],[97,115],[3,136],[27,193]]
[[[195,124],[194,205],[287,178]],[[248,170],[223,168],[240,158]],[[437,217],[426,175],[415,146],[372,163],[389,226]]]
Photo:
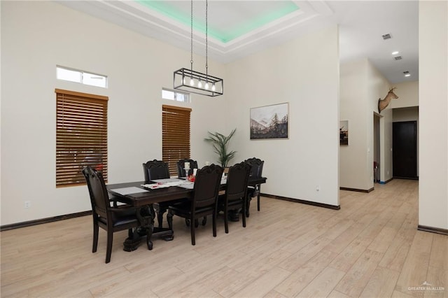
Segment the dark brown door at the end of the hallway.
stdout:
[[417,122],[393,122],[393,177],[417,178]]

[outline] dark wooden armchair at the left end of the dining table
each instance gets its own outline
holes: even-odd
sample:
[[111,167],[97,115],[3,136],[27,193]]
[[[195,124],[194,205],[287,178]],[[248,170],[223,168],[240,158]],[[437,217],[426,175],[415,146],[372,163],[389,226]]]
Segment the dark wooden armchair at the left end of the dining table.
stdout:
[[111,262],[113,233],[128,230],[131,238],[134,234],[133,228],[139,227],[137,209],[128,205],[113,207],[111,203],[116,203],[109,198],[106,184],[102,173],[87,166],[83,169],[83,175],[87,182],[92,204],[93,215],[93,245],[92,253],[97,252],[99,227],[107,232],[106,263]]

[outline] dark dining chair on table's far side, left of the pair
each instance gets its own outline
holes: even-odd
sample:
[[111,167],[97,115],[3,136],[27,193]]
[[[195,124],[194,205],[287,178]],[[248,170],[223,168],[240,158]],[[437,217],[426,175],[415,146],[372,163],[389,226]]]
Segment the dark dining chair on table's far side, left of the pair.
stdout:
[[[162,160],[153,159],[143,164],[145,184],[151,183],[151,180],[169,178],[169,166]],[[177,204],[186,199],[175,199],[172,201],[161,201],[154,203],[153,207],[157,213],[157,220],[159,227],[163,225],[163,214],[167,212],[168,207]]]

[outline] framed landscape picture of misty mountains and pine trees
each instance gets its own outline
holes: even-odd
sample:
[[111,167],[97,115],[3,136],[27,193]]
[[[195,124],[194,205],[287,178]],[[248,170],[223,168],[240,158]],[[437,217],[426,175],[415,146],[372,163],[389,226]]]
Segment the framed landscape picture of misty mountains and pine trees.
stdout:
[[251,140],[288,139],[289,103],[251,108]]

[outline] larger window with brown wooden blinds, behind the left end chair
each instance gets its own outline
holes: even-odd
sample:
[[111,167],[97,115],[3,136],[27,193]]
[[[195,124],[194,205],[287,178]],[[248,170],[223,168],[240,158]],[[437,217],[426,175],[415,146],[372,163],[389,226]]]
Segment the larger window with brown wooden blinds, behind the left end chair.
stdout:
[[108,97],[56,89],[56,187],[85,184],[85,166],[107,182]]

